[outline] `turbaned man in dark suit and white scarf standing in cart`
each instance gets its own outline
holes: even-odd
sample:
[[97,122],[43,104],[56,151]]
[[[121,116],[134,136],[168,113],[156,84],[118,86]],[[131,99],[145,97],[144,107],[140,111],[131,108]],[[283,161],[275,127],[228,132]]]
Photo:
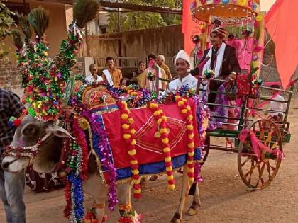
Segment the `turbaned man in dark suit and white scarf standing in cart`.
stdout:
[[[226,30],[221,26],[221,22],[214,21],[210,31],[212,47],[204,51],[199,66],[191,71],[192,75],[202,75],[204,69],[211,69],[216,72],[216,79],[236,80],[236,75],[241,72],[241,68],[236,57],[235,48],[226,45],[226,42],[224,42],[225,37]],[[221,84],[220,81],[210,81],[209,89],[216,91]],[[216,93],[210,93],[208,102],[214,103],[215,98]]]

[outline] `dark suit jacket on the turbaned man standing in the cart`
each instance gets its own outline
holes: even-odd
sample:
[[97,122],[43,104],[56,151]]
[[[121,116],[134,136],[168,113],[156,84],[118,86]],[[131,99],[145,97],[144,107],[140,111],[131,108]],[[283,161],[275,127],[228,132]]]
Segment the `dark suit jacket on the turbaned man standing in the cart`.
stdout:
[[[204,61],[208,55],[210,49],[204,51],[204,56],[201,59],[200,63]],[[211,59],[211,58],[210,58]],[[223,54],[223,63],[221,65],[221,74],[219,76],[228,76],[231,72],[236,72],[237,74],[241,73],[241,68],[236,57],[235,48],[229,45],[226,45],[226,49]],[[199,68],[195,68],[190,72],[193,76],[199,75]]]

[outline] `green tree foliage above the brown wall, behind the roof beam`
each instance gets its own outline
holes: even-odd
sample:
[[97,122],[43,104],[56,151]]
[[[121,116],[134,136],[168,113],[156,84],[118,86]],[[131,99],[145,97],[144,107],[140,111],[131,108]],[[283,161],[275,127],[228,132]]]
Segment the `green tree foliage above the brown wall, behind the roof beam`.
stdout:
[[[129,3],[167,6],[170,8],[180,8],[180,1],[175,0],[128,0]],[[118,13],[109,13],[109,33],[118,31]],[[120,30],[140,30],[145,28],[156,28],[165,25],[176,25],[181,23],[181,16],[165,13],[151,13],[143,11],[134,11],[128,13],[120,13]]]

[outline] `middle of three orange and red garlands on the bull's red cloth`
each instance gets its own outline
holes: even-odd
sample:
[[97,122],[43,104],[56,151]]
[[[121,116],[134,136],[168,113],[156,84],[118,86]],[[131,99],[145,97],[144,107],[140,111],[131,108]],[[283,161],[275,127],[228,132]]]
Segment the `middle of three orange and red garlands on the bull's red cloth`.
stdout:
[[167,117],[162,110],[158,108],[158,104],[151,102],[149,108],[153,111],[153,116],[158,123],[158,129],[163,144],[163,152],[165,157],[165,169],[167,171],[167,186],[170,190],[175,189],[175,181],[172,171],[172,158],[170,154],[169,132],[167,130]]

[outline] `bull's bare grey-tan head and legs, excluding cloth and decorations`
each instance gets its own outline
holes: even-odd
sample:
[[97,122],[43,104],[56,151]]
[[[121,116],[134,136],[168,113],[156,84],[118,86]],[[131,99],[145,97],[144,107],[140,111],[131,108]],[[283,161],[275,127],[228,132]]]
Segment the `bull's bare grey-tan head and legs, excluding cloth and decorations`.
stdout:
[[[55,168],[60,161],[60,154],[62,151],[62,137],[70,137],[69,132],[67,132],[62,127],[55,125],[53,122],[40,122],[31,117],[31,115],[26,115],[23,118],[21,125],[16,129],[16,133],[13,137],[13,142],[11,147],[19,149],[27,149],[28,156],[32,155],[34,151],[37,151],[33,155],[32,163],[35,171],[41,173],[50,173],[55,171]],[[40,139],[42,139],[40,143]],[[16,157],[16,156],[6,156],[2,161],[2,167],[6,171],[19,172],[23,168],[26,168],[29,164],[29,157]],[[101,222],[104,217],[104,203],[106,200],[107,188],[103,185],[99,174],[96,171],[91,171],[92,166],[94,169],[95,159],[90,156],[89,162],[89,178],[84,182],[84,192],[92,195],[97,205],[96,207],[96,219]],[[94,185],[96,185],[96,190],[94,190]],[[178,205],[177,211],[174,217],[172,217],[171,222],[180,222],[182,219],[182,211],[184,208],[185,201],[187,200],[187,195],[189,193],[189,181],[187,177],[187,168],[185,166],[182,178],[182,192],[180,203]],[[131,182],[121,183],[117,186],[119,206],[130,205],[131,204]],[[195,215],[197,213],[197,208],[200,206],[199,199],[199,188],[195,185],[194,197],[192,206],[189,207],[188,215]]]

